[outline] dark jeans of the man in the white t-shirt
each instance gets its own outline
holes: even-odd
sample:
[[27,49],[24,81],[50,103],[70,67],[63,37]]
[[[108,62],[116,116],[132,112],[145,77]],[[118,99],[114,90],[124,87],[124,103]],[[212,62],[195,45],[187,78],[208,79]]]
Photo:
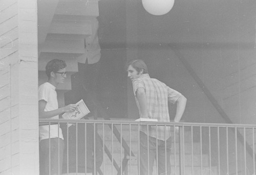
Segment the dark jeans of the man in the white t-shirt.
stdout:
[[[50,139],[44,139],[39,142],[39,169],[40,175],[61,174],[63,162],[63,150],[65,143],[60,138],[51,138],[51,150],[49,147]],[[51,159],[49,162],[49,156]],[[49,173],[49,165],[51,163],[51,172]],[[58,164],[59,163],[59,164]]]

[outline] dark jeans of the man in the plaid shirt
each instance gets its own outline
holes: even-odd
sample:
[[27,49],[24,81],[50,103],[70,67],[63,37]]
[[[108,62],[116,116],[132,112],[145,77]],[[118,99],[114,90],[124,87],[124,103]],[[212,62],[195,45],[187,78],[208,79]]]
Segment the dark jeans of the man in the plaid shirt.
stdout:
[[[147,143],[148,138],[148,143]],[[140,175],[152,175],[154,161],[157,160],[158,174],[170,174],[170,151],[172,147],[172,138],[169,137],[165,141],[156,139],[155,137],[147,136],[145,133],[140,132]],[[157,154],[158,151],[158,154]],[[149,158],[147,154],[149,153]],[[166,169],[165,169],[166,165]],[[149,168],[148,168],[149,166]],[[148,172],[149,169],[149,172]]]

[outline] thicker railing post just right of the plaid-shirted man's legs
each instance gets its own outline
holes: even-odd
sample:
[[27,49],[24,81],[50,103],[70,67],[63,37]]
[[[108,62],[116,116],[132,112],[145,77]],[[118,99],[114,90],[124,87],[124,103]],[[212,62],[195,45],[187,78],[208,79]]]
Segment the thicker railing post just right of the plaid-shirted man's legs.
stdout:
[[179,161],[180,161],[180,175],[184,175],[184,131],[183,127],[179,127]]

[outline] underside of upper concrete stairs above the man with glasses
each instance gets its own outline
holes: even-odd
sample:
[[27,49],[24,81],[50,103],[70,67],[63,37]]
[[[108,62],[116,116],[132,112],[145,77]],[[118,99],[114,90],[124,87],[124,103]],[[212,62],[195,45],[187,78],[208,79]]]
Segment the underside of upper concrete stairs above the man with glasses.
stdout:
[[59,97],[63,97],[63,93],[71,89],[70,76],[78,71],[78,59],[81,61],[87,52],[86,41],[95,34],[98,0],[38,0],[37,6],[38,83],[40,85],[48,79],[45,74],[48,61],[65,60],[67,79],[57,87]]

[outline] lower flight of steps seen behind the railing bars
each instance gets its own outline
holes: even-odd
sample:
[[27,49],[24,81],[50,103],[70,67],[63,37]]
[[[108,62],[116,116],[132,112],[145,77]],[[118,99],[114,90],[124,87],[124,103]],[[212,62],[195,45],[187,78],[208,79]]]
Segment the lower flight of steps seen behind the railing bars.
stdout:
[[[126,143],[131,147],[131,151],[134,153],[134,157],[126,156],[128,160],[128,164],[126,167],[122,167],[124,171],[123,174],[138,174],[138,162],[137,162],[137,155],[138,155],[138,126],[131,127],[131,140],[130,140],[130,133],[129,133],[129,126],[122,124],[122,132],[120,130],[120,124],[115,124],[115,127],[118,129],[119,133],[122,133],[123,139]],[[103,131],[102,125],[98,125],[98,134],[103,139]],[[112,137],[113,137],[113,144],[112,144]],[[203,174],[203,175],[215,175],[217,173],[216,167],[210,167],[209,165],[209,156],[208,154],[202,154],[201,156],[201,146],[200,142],[193,142],[193,161],[192,154],[191,154],[191,132],[185,131],[184,133],[184,173],[181,174]],[[174,137],[173,137],[174,138]],[[113,135],[111,129],[108,125],[104,126],[104,143],[106,147],[108,147],[109,151],[112,153],[113,158],[117,162],[118,166],[121,165],[121,159],[124,158],[124,151],[121,148],[120,142],[117,138]],[[175,144],[175,146],[174,146]],[[112,149],[113,147],[113,149]],[[179,167],[179,139],[178,135],[176,135],[176,141],[172,144],[172,155],[171,155],[171,166],[172,166],[172,174],[180,174],[180,167]],[[174,160],[175,159],[175,160]],[[202,161],[201,161],[202,160]],[[202,165],[202,166],[201,166]],[[104,169],[103,169],[104,167]],[[108,156],[104,155],[104,165],[101,165],[101,171],[103,174],[117,174],[117,170],[114,166],[112,166],[111,160]],[[192,173],[193,171],[193,173]],[[211,173],[210,173],[211,171]],[[156,166],[154,166],[153,174],[156,173]]]

